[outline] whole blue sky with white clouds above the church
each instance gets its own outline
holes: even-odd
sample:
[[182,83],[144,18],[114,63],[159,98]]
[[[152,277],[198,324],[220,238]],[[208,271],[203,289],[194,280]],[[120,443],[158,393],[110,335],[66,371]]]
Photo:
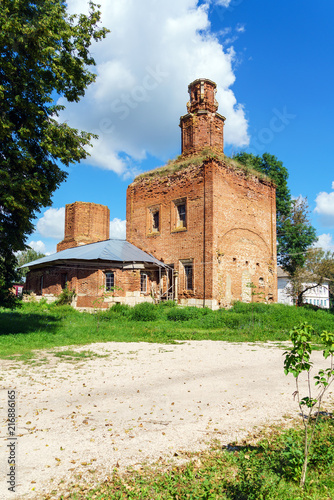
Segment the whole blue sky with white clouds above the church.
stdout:
[[[334,4],[309,0],[102,0],[111,32],[92,47],[97,80],[61,119],[99,140],[68,169],[28,244],[55,251],[64,207],[108,205],[111,236],[124,237],[126,188],[180,153],[187,86],[218,86],[225,153],[277,156],[293,196],[307,197],[320,244],[334,251],[332,145]],[[87,3],[69,0],[71,12]]]

